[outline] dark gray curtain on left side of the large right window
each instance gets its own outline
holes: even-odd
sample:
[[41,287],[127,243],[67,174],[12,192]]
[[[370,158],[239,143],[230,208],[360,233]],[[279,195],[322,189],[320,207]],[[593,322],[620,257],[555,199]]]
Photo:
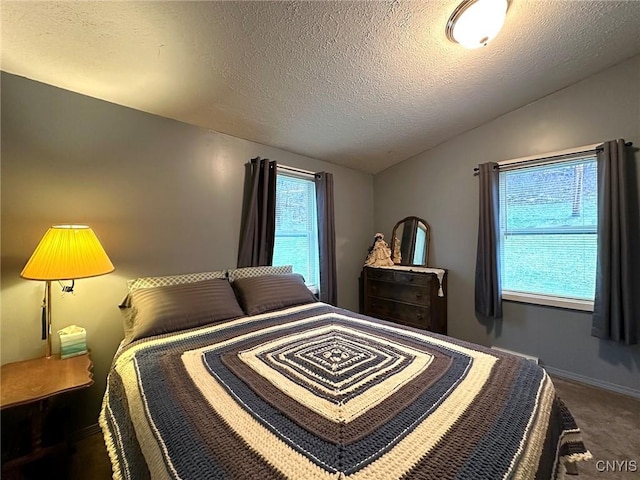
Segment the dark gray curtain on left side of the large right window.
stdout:
[[478,167],[480,216],[476,254],[476,313],[485,319],[502,318],[498,164],[490,162]]

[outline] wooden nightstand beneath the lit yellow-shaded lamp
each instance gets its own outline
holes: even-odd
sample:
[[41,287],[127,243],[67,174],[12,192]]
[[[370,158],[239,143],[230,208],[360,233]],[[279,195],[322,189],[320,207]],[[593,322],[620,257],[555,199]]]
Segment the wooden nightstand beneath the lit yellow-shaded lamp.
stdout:
[[64,360],[55,355],[2,365],[0,409],[28,405],[31,410],[31,451],[7,461],[2,466],[3,479],[19,477],[23,465],[68,448],[66,443],[43,446],[42,422],[53,397],[93,384],[92,368],[88,353]]

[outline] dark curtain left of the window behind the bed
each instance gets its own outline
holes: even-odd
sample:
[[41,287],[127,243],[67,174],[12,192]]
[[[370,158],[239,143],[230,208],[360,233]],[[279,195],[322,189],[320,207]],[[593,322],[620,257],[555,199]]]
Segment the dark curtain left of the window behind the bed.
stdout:
[[276,162],[247,164],[238,267],[271,265],[276,232]]

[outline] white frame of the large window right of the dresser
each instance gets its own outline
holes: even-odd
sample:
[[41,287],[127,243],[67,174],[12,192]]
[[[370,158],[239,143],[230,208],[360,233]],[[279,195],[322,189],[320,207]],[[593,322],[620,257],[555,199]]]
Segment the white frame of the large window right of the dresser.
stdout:
[[[513,171],[513,170],[524,170],[524,169],[528,169],[528,168],[538,168],[538,167],[544,167],[544,166],[552,166],[552,165],[558,165],[558,164],[563,164],[563,163],[571,163],[571,162],[576,162],[579,160],[590,160],[590,159],[595,159],[596,161],[596,168],[597,168],[597,157],[596,157],[596,147],[599,146],[599,144],[596,145],[589,145],[586,147],[581,147],[580,149],[573,149],[573,150],[565,150],[562,152],[554,152],[554,153],[549,153],[546,155],[539,155],[539,156],[530,156],[530,157],[526,157],[526,158],[522,158],[522,159],[515,159],[515,160],[509,160],[509,161],[505,161],[505,162],[499,162],[499,168],[500,168],[500,172],[499,175],[501,173],[506,173],[507,171]],[[502,191],[502,178],[500,177],[499,180],[500,183],[500,194],[503,194]],[[596,188],[598,187],[597,185],[597,181],[596,181]],[[502,205],[502,201],[500,201],[500,204]],[[549,227],[549,228],[532,228],[529,229],[530,232],[529,233],[536,233],[536,234],[542,234],[542,233],[547,233],[547,234],[554,234],[554,233],[574,233],[574,234],[596,234],[596,241],[597,241],[597,225],[595,227],[593,226],[578,226],[578,227],[561,227],[561,228],[553,228],[553,227]],[[498,248],[502,251],[503,249],[503,226],[502,226],[502,214],[500,215],[500,224],[499,224],[499,246]],[[517,231],[511,230],[511,235],[518,235],[518,234],[525,234],[527,233],[527,229],[518,229]],[[557,307],[557,308],[563,308],[563,309],[570,309],[570,310],[578,310],[578,311],[586,311],[586,312],[593,312],[593,304],[594,301],[593,300],[586,300],[586,299],[582,299],[582,298],[572,298],[569,296],[557,296],[557,295],[546,295],[546,294],[538,294],[538,293],[532,293],[532,292],[521,292],[521,291],[514,291],[514,290],[508,290],[503,288],[502,285],[502,275],[503,275],[503,262],[501,262],[500,265],[500,277],[501,277],[501,297],[503,300],[507,300],[507,301],[512,301],[512,302],[518,302],[518,303],[527,303],[527,304],[532,304],[532,305],[542,305],[542,306],[548,306],[548,307]],[[595,295],[595,294],[594,294]]]

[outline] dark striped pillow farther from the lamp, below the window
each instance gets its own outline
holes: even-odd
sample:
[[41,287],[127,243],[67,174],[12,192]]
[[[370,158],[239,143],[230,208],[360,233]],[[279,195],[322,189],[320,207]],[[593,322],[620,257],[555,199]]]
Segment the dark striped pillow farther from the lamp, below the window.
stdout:
[[233,289],[247,315],[317,302],[297,273],[239,278]]

